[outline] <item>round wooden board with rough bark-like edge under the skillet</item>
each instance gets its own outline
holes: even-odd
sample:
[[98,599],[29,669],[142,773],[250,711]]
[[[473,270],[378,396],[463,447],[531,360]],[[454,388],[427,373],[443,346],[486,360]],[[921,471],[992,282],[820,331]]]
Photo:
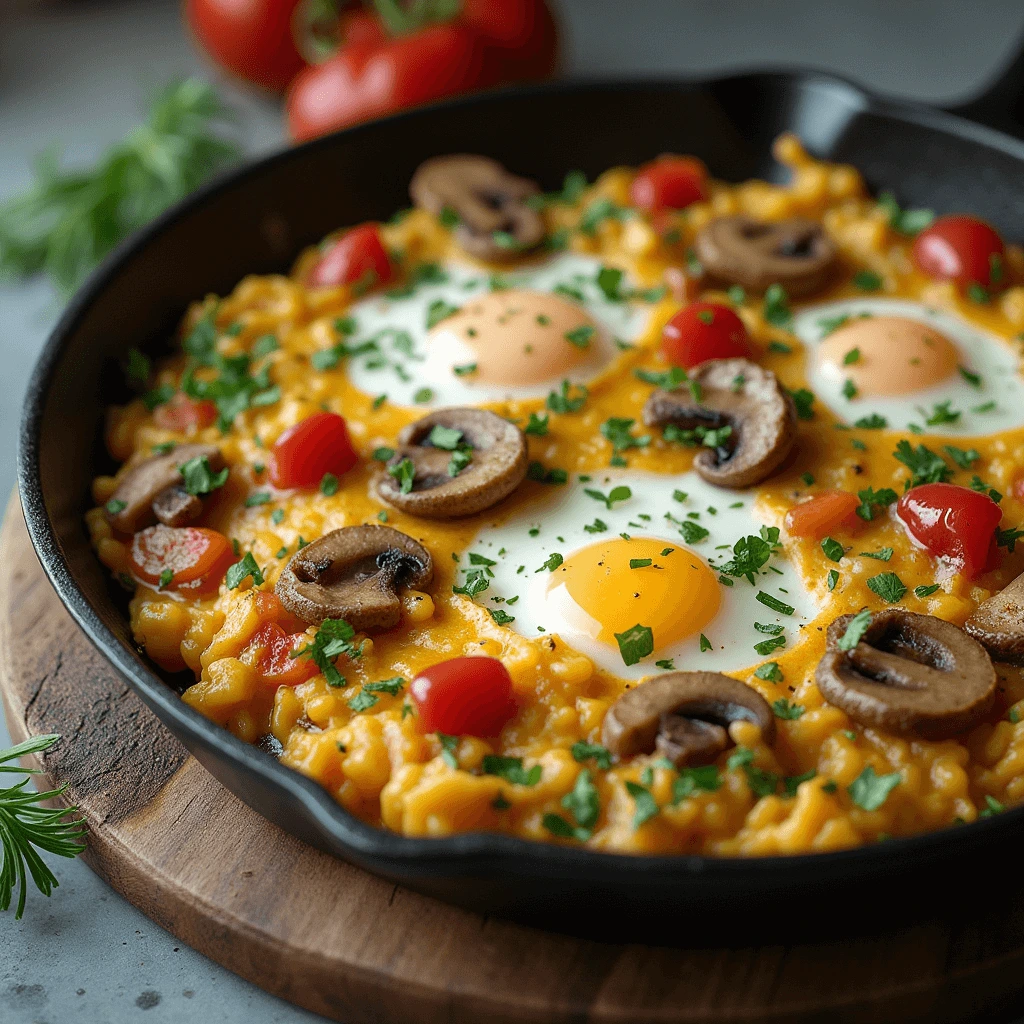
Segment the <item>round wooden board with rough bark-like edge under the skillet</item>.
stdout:
[[[44,767],[88,821],[85,859],[275,995],[345,1024],[979,1021],[1024,1006],[1014,880],[982,916],[881,936],[773,944],[770,921],[737,918],[733,948],[570,938],[382,882],[269,824],[185,753],[65,611],[14,500],[0,564],[7,722],[15,740],[63,736]],[[680,936],[699,939],[685,922]]]

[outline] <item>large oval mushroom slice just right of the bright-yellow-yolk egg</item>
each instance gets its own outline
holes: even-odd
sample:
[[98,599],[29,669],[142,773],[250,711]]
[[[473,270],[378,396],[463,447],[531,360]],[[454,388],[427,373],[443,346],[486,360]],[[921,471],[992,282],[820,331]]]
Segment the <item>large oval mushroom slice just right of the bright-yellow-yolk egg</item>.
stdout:
[[824,698],[861,725],[947,739],[979,722],[995,695],[985,648],[963,630],[902,608],[871,617],[850,650],[840,647],[853,615],[829,627],[815,681]]

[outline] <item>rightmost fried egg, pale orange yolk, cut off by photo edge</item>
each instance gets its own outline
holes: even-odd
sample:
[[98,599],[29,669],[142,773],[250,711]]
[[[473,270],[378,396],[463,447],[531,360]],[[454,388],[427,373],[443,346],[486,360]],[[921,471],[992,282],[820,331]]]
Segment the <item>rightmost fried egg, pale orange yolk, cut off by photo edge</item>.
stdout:
[[1015,352],[919,302],[853,299],[802,310],[811,389],[851,426],[980,436],[1024,425]]

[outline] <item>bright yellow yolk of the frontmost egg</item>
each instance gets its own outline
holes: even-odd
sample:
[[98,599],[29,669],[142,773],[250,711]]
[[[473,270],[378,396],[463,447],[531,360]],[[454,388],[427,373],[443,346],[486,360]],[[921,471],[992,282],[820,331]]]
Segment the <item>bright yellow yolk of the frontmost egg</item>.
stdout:
[[577,551],[551,573],[548,602],[566,626],[616,645],[648,626],[654,649],[699,632],[718,611],[719,584],[702,558],[651,538],[615,538]]

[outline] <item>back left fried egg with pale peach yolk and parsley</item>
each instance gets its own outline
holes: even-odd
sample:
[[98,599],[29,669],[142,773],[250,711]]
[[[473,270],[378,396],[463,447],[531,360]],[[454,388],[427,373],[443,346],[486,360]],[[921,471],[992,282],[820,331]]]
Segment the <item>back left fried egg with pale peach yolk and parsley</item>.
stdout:
[[561,254],[494,275],[450,261],[415,289],[374,295],[344,318],[347,373],[392,404],[478,406],[593,380],[635,341],[648,310],[610,299],[603,264]]

